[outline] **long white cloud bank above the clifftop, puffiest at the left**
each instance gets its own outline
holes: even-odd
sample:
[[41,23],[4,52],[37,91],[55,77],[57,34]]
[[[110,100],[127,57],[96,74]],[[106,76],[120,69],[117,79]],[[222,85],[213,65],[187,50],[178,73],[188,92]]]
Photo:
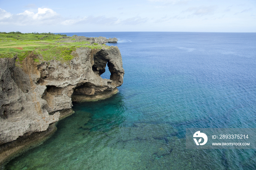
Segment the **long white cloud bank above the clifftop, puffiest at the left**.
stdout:
[[147,18],[133,17],[128,19],[118,19],[106,16],[88,16],[78,18],[64,18],[57,12],[49,8],[38,8],[36,13],[24,11],[12,15],[3,9],[0,11],[0,24],[16,26],[43,26],[43,25],[75,25],[75,24],[97,24],[97,25],[136,25],[147,22]]

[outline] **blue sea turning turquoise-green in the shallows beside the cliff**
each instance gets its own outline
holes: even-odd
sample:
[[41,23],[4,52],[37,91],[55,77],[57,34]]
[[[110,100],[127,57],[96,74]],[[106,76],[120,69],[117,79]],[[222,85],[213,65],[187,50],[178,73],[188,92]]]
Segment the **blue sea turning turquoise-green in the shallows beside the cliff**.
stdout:
[[121,51],[124,83],[105,100],[73,103],[52,138],[7,169],[256,169],[253,149],[185,147],[185,128],[256,128],[256,33],[64,34],[118,38],[107,45]]

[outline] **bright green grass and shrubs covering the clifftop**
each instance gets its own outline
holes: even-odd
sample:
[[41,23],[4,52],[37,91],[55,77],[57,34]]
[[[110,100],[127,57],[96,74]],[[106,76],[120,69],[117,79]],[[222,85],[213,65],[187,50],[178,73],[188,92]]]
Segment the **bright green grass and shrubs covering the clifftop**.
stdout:
[[21,33],[0,32],[0,58],[12,58],[17,56],[16,62],[22,64],[24,58],[30,53],[35,54],[35,62],[49,61],[52,59],[59,61],[69,61],[76,57],[76,49],[87,47],[90,49],[109,48],[98,43],[91,44],[87,41],[67,41],[76,40],[75,36],[65,38],[67,35],[53,33]]

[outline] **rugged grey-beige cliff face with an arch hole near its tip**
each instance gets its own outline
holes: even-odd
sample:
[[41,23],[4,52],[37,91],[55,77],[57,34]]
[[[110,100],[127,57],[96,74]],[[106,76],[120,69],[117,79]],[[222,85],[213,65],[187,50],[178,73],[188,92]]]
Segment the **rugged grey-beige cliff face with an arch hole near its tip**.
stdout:
[[[0,58],[0,144],[45,131],[69,111],[72,101],[108,97],[123,83],[124,69],[117,47],[80,47],[69,62],[35,62],[30,53],[22,67],[16,58]],[[101,78],[108,65],[110,79]]]

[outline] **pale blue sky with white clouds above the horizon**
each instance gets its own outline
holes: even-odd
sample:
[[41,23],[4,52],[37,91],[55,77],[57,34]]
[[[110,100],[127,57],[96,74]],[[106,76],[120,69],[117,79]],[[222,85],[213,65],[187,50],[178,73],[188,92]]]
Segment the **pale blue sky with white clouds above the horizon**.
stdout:
[[0,0],[0,32],[256,32],[256,0]]

